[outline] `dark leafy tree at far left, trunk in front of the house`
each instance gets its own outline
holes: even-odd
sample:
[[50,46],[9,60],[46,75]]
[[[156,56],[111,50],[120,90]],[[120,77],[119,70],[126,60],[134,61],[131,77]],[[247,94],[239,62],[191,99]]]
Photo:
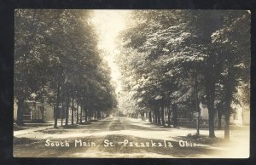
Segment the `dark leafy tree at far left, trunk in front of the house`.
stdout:
[[[22,125],[24,100],[31,94],[44,94],[48,82],[48,48],[44,42],[44,30],[48,13],[36,10],[15,10],[15,100],[18,103],[17,123]],[[39,18],[45,19],[40,21]],[[49,15],[48,15],[49,16]],[[37,45],[37,46],[36,46]],[[42,90],[43,89],[43,90]]]

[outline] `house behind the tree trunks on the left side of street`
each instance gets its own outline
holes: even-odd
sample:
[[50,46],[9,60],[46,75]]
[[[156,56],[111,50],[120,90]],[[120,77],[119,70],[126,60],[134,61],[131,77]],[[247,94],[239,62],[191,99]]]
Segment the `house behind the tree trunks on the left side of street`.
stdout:
[[[17,105],[14,105],[14,120],[17,119]],[[54,109],[50,105],[36,101],[26,100],[24,102],[24,122],[49,122],[54,120]]]

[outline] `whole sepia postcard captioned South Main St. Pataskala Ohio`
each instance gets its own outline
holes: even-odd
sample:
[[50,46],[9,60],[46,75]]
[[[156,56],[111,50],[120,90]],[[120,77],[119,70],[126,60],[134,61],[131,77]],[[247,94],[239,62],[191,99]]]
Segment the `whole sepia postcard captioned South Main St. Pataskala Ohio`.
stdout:
[[249,10],[15,9],[15,157],[247,158]]

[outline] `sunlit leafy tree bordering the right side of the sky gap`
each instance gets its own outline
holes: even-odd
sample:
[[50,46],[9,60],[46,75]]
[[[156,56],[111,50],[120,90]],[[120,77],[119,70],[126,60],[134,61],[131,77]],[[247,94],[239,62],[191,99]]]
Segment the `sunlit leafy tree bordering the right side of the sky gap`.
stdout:
[[[180,85],[186,81],[179,80],[192,75],[190,70],[195,70],[192,64],[196,65],[196,61],[201,61],[204,54],[194,54],[195,48],[187,46],[193,37],[187,32],[188,22],[181,20],[186,13],[179,10],[163,10],[140,11],[135,12],[135,15],[137,27],[125,31],[124,34],[126,51],[127,47],[135,51],[128,53],[127,58],[131,60],[124,59],[131,61],[129,64],[133,67],[130,71],[137,73],[137,77],[134,77],[138,79],[137,82],[144,82],[143,85],[137,84],[141,88],[140,91],[143,91],[143,94],[137,95],[148,96],[144,98],[146,102],[161,105],[161,108],[156,107],[155,113],[161,117],[164,124],[164,106],[168,108],[171,103],[173,112],[177,114],[177,103],[188,99],[188,96],[183,95],[190,91]],[[177,92],[178,88],[182,92]],[[159,108],[161,115],[158,113]],[[174,118],[176,117],[177,115]],[[174,121],[177,126],[177,120]]]

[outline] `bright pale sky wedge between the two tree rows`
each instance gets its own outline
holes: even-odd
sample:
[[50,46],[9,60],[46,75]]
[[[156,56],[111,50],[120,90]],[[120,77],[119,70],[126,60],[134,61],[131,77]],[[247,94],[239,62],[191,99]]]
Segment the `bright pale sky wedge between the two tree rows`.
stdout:
[[116,93],[121,90],[119,67],[114,57],[115,54],[119,54],[119,47],[116,43],[119,32],[127,26],[125,16],[129,13],[130,11],[125,10],[95,10],[92,18],[100,36],[99,48],[103,51],[104,59],[108,61],[113,82],[116,84]]

